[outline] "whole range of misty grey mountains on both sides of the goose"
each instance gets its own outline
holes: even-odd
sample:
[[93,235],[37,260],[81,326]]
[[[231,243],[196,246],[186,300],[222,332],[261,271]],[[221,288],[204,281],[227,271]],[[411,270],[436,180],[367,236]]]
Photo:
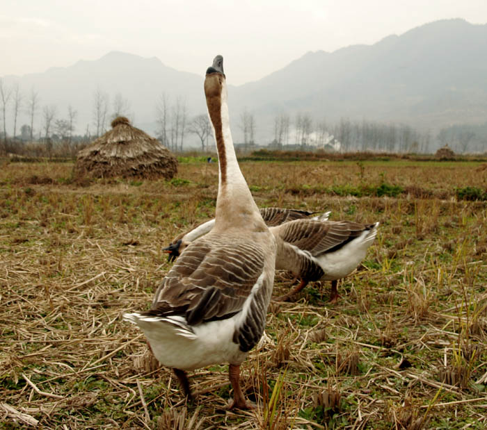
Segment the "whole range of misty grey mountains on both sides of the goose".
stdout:
[[[18,81],[24,92],[34,87],[41,104],[58,106],[62,116],[71,104],[79,111],[79,132],[93,123],[97,88],[112,98],[120,92],[130,101],[135,125],[154,133],[162,92],[170,103],[184,99],[190,116],[205,112],[205,67],[202,74],[191,74],[157,58],[111,52],[40,74],[6,76],[6,82]],[[229,92],[237,141],[244,108],[255,114],[256,140],[262,143],[271,141],[273,118],[280,112],[292,119],[307,112],[328,123],[341,117],[401,122],[433,134],[452,124],[482,124],[487,119],[487,24],[442,20],[373,45],[309,52],[260,81],[230,85]]]

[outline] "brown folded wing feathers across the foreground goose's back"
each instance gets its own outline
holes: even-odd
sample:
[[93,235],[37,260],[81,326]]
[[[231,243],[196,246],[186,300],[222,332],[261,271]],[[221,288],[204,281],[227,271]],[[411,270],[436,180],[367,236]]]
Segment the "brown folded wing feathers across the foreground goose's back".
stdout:
[[146,315],[178,315],[190,326],[231,317],[261,287],[263,271],[264,252],[253,242],[206,236],[179,256]]

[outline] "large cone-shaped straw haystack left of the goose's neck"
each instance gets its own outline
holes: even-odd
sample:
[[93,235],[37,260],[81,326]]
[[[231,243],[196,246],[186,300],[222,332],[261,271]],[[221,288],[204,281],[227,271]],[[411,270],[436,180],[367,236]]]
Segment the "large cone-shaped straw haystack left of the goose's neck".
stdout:
[[131,126],[129,119],[117,117],[111,126],[110,131],[79,151],[74,167],[78,177],[171,179],[177,173],[175,156],[157,139]]

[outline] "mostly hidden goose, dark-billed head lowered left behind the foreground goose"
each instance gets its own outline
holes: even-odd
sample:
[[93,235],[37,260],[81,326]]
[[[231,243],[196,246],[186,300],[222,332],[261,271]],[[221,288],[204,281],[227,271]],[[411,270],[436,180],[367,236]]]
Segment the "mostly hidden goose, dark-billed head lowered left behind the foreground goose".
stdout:
[[[260,208],[260,215],[268,227],[278,226],[288,221],[301,220],[313,215],[309,210],[287,209],[287,208]],[[328,220],[330,212],[323,213],[312,217],[312,220]],[[168,247],[163,248],[163,251],[168,253],[168,261],[175,261],[175,259],[184,251],[184,249],[193,240],[196,240],[203,235],[209,233],[215,225],[215,219],[202,222],[194,229],[185,231],[177,235]]]

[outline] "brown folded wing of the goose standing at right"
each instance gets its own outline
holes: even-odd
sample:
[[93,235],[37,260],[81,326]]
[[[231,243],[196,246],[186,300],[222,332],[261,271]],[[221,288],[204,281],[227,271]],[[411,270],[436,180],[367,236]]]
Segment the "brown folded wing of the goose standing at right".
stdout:
[[340,249],[372,226],[349,221],[296,220],[283,224],[279,235],[302,251],[319,256]]

